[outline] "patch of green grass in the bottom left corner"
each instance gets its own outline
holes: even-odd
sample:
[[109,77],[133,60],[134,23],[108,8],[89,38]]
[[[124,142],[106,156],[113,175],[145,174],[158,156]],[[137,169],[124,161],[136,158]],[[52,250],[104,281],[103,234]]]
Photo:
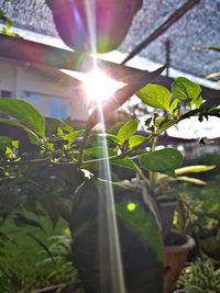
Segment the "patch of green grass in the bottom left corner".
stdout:
[[1,228],[9,240],[0,248],[0,293],[26,293],[44,286],[75,282],[77,279],[70,261],[58,256],[52,260],[43,248],[56,245],[54,243],[57,238],[53,236],[64,236],[66,224],[58,221],[53,228],[47,217],[29,216],[37,221],[44,230],[28,225],[16,226],[10,219]]

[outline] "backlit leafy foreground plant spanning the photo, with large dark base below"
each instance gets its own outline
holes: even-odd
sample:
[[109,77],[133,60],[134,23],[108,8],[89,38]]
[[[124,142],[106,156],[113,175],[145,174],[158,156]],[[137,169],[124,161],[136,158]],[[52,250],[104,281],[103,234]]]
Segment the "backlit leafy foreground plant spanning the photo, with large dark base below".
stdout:
[[[18,144],[7,134],[1,136],[1,182],[4,187],[19,185],[24,202],[33,196],[54,224],[59,216],[67,222],[73,262],[87,293],[163,292],[164,245],[155,201],[147,192],[151,178],[143,170],[175,177],[183,156],[174,148],[148,151],[140,146],[154,142],[168,127],[190,116],[219,116],[217,106],[202,103],[200,91],[199,86],[185,78],[175,80],[172,93],[157,84],[144,87],[138,93],[142,101],[167,112],[146,122],[152,127],[148,137],[135,134],[135,120],[116,135],[94,133],[98,108],[86,128],[77,131],[56,120],[45,125],[42,115],[24,101],[0,99],[0,111],[13,117],[0,122],[22,128],[34,146],[23,150],[22,140]],[[188,110],[184,111],[182,104]],[[107,103],[101,106],[107,111]],[[88,138],[94,143],[87,144]],[[112,182],[110,166],[116,165],[132,169],[136,179]],[[20,209],[24,207],[30,205],[21,206],[20,202]],[[34,206],[31,209],[34,211]]]

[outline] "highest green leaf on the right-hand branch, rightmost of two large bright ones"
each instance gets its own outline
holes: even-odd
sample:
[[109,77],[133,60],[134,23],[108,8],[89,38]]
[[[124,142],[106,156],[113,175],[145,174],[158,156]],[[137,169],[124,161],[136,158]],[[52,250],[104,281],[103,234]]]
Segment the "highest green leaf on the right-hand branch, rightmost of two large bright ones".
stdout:
[[172,94],[180,101],[196,102],[201,93],[201,87],[185,77],[178,77],[172,84]]

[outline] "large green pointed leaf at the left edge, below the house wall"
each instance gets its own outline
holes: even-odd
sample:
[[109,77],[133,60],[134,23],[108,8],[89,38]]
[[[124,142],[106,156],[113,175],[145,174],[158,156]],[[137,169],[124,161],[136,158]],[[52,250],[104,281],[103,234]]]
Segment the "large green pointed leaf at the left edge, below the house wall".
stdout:
[[45,137],[44,119],[36,109],[18,99],[0,99],[0,111],[14,117],[41,137]]

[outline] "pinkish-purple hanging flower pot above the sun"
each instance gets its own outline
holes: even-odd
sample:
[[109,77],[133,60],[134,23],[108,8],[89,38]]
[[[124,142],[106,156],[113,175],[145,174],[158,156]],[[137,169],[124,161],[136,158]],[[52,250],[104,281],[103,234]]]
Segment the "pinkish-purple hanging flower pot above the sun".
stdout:
[[[143,0],[46,0],[46,2],[66,45],[84,52],[92,52],[95,45],[98,53],[106,53],[121,44]],[[90,4],[88,10],[86,3]]]

